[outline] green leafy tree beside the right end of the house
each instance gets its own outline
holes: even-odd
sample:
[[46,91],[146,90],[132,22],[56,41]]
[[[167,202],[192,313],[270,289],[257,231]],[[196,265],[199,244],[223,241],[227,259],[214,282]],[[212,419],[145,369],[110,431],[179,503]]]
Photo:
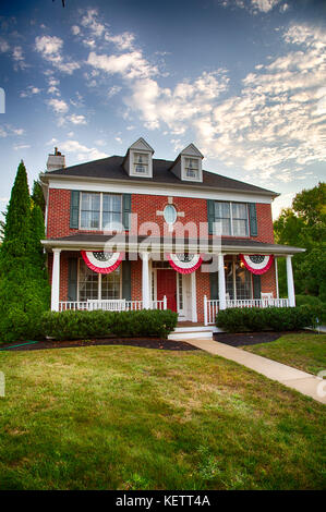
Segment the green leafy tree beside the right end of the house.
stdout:
[[[274,222],[276,242],[304,247],[293,257],[297,293],[326,301],[326,183],[298,193],[291,208],[281,211]],[[280,293],[287,293],[285,261],[279,264]]]

